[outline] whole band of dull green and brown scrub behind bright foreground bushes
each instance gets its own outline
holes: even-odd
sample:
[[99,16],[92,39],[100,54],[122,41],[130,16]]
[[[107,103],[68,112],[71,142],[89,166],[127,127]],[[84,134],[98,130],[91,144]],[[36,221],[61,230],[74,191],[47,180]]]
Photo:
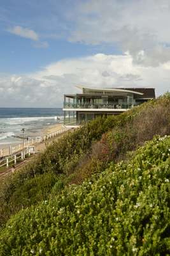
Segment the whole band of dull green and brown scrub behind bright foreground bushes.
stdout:
[[155,134],[170,134],[169,109],[167,93],[122,115],[97,118],[47,147],[1,186],[0,225],[19,209],[60,194],[65,185],[81,184],[92,174],[103,172],[111,161],[131,157],[129,152]]

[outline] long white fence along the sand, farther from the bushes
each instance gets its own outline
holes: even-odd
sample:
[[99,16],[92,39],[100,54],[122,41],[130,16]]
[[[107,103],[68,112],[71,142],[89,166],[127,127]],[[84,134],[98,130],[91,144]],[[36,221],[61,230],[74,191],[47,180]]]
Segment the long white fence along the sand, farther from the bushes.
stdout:
[[[43,138],[38,136],[36,138],[32,138],[31,140],[25,140],[24,148],[26,148],[27,146],[35,145],[36,143],[41,143],[43,141],[50,140],[51,138],[58,136],[59,134],[62,134],[63,132],[66,132],[69,129],[70,128],[63,127],[62,129],[60,129],[57,132],[52,132],[50,134],[43,136]],[[13,145],[13,146],[9,145],[6,148],[1,148],[0,149],[0,159],[3,157],[11,156],[17,152],[20,152],[22,149],[23,149],[23,143],[19,143],[17,145]]]

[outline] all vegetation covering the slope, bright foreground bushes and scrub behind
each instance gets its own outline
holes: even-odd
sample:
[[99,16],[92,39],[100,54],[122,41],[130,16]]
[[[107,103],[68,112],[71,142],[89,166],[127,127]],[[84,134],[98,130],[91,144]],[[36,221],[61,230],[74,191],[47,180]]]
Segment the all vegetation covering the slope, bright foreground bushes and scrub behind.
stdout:
[[168,255],[169,109],[97,118],[10,175],[1,255]]

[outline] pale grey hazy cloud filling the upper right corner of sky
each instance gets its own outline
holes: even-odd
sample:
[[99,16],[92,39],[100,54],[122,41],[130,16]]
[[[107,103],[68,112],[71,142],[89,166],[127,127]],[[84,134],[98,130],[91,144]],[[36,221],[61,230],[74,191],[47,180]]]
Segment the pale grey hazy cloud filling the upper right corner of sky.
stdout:
[[169,0],[83,1],[72,19],[73,42],[118,45],[148,67],[170,60]]

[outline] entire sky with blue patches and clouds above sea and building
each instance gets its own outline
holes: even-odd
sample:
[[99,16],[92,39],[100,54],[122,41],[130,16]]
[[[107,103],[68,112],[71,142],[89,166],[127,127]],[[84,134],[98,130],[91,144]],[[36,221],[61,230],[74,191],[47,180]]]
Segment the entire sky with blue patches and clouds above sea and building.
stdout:
[[76,84],[170,91],[169,0],[0,0],[0,107],[61,108]]

